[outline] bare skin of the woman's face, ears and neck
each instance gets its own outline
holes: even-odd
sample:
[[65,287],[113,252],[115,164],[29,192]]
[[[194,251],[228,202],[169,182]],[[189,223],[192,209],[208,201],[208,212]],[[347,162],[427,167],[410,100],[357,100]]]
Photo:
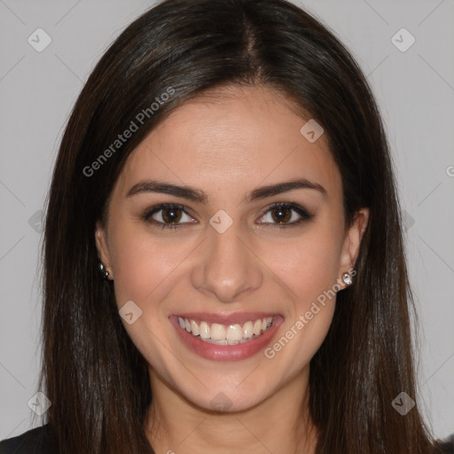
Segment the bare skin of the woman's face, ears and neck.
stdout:
[[[272,346],[317,296],[346,286],[340,277],[354,268],[369,212],[360,210],[345,228],[339,169],[325,135],[313,144],[301,135],[308,120],[275,91],[218,88],[160,122],[114,185],[106,221],[97,224],[98,253],[119,309],[134,301],[142,310],[135,323],[123,323],[149,364],[153,403],[145,430],[158,453],[315,452],[309,361],[325,340],[335,296],[273,358],[262,351],[239,361],[202,358],[168,320],[184,311],[278,312],[284,322]],[[296,189],[247,200],[259,186],[303,177],[325,195]],[[127,196],[149,179],[195,187],[206,192],[207,205],[157,192]],[[188,213],[176,229],[143,218],[166,202]],[[313,217],[280,228],[277,210],[266,213],[274,202],[294,202]],[[233,220],[222,234],[209,223],[220,209]],[[163,214],[153,219],[163,222]],[[301,218],[292,209],[284,214],[285,223]],[[220,392],[231,406],[216,412],[210,402]]]

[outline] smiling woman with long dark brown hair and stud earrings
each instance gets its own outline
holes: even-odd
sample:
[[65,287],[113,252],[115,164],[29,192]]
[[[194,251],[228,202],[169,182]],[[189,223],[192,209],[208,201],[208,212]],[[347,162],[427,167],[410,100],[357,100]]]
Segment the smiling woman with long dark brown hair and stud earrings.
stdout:
[[165,1],[90,75],[45,224],[48,424],[5,452],[434,453],[364,75],[283,0]]

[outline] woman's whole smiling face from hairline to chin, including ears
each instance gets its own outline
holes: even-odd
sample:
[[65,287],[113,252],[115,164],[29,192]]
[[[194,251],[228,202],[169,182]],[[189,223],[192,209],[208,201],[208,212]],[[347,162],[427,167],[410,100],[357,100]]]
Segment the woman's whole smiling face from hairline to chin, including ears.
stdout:
[[152,387],[241,411],[308,377],[368,213],[345,227],[325,136],[290,99],[212,95],[129,155],[96,239]]

